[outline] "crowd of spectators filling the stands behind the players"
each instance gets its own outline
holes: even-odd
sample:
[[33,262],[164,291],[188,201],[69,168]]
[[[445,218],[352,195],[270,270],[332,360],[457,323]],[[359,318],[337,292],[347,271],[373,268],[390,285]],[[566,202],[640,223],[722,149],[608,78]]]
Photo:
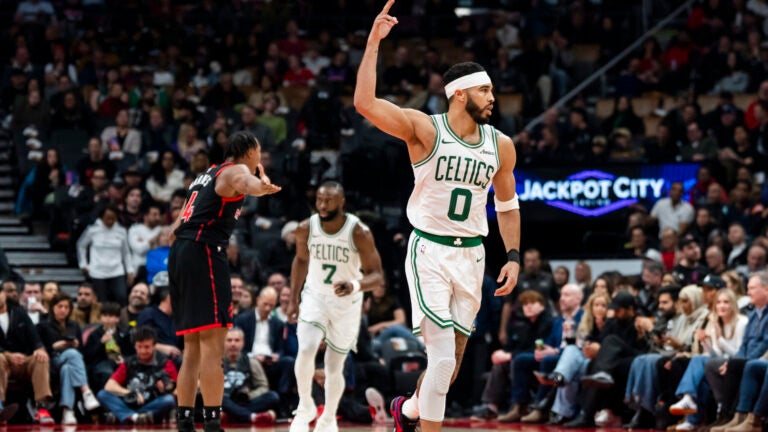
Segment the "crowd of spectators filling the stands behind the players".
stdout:
[[[326,3],[0,4],[0,115],[19,161],[17,212],[48,223],[51,243],[88,279],[75,299],[56,281],[3,281],[0,421],[169,418],[183,346],[167,289],[168,226],[185,187],[223,161],[239,130],[257,136],[284,189],[246,201],[226,251],[236,328],[226,341],[224,410],[233,422],[268,423],[295,407],[298,344],[285,315],[294,231],[312,212],[316,185],[335,177],[374,232],[388,281],[364,303],[340,415],[381,420],[366,396],[376,389],[389,399],[401,387],[389,344],[419,350],[401,270],[412,174],[404,147],[349,104],[375,2]],[[672,185],[653,208],[631,209],[620,252],[643,259],[639,276],[593,279],[580,262],[571,278],[528,249],[508,299],[494,298],[486,277],[449,415],[571,426],[623,416],[637,426],[652,413],[659,427],[757,424],[768,414],[762,399],[750,403],[768,392],[758,385],[768,351],[768,3],[697,3],[672,38],[648,39],[609,74],[612,113],[598,116],[584,94],[530,130],[525,120],[584,77],[575,47],[599,43],[599,61],[612,58],[640,34],[632,14],[621,1],[502,1],[491,14],[457,18],[454,3],[398,1],[400,37],[382,46],[382,95],[442,112],[442,72],[473,60],[488,68],[499,100],[522,98],[519,115],[497,106],[492,119],[514,136],[521,167],[700,169],[687,190]],[[634,106],[648,92],[662,103],[639,116]],[[753,96],[740,108],[744,94]],[[716,97],[704,112],[702,95]],[[30,418],[16,413],[25,398],[35,402]]]

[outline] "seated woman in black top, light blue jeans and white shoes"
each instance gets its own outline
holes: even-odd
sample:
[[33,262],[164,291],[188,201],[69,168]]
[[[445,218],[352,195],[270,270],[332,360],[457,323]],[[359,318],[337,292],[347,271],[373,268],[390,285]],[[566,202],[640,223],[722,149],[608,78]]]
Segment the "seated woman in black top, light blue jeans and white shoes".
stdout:
[[80,326],[69,320],[72,299],[66,293],[57,294],[51,301],[48,320],[38,324],[40,339],[51,356],[53,367],[59,371],[61,381],[62,424],[76,424],[72,408],[75,406],[75,389],[83,392],[85,409],[99,407],[99,402],[88,386],[83,355],[78,351],[83,335]]

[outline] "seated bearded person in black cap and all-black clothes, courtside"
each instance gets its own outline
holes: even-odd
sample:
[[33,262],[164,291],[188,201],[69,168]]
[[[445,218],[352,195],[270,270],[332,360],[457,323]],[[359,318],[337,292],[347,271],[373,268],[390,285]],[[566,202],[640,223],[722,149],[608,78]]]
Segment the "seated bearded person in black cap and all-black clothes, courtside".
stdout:
[[595,413],[600,408],[619,408],[624,400],[632,361],[648,351],[644,329],[635,326],[635,297],[627,291],[620,291],[608,308],[614,311],[613,318],[605,323],[600,340],[585,348],[590,353],[597,350],[597,354],[587,367],[588,375],[581,379],[581,412],[565,427],[594,427]]

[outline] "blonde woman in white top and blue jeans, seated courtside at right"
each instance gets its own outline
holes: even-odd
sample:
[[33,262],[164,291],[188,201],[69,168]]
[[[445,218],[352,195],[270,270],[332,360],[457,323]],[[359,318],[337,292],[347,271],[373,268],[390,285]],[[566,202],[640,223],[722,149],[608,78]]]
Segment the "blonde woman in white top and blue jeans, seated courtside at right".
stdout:
[[[706,293],[716,287],[725,286],[718,276],[709,275],[704,279],[702,288]],[[697,401],[704,400],[709,393],[709,385],[704,379],[704,365],[710,359],[733,356],[739,349],[747,326],[747,317],[739,313],[736,296],[727,288],[715,291],[714,308],[700,330],[696,331],[690,359],[678,358],[674,362],[677,368],[685,365],[682,378],[670,380],[667,384],[677,382],[675,395],[680,398],[671,405],[669,411],[673,415],[686,415],[683,425],[678,430],[693,430],[701,419]]]

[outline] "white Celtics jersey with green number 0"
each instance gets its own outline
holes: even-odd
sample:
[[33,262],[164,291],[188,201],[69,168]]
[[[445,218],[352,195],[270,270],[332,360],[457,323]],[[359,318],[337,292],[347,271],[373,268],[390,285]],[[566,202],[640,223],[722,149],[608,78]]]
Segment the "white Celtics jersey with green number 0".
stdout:
[[451,130],[446,114],[430,118],[437,129],[435,147],[426,159],[413,164],[408,220],[429,234],[485,236],[488,188],[499,170],[496,129],[479,125],[480,141],[469,144]]

